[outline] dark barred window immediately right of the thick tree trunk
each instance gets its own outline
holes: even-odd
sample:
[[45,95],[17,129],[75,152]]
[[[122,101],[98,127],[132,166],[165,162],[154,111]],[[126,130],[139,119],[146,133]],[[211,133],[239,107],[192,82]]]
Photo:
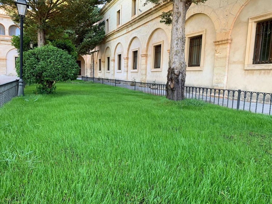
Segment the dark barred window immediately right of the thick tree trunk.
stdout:
[[200,66],[202,35],[190,38],[188,66]]

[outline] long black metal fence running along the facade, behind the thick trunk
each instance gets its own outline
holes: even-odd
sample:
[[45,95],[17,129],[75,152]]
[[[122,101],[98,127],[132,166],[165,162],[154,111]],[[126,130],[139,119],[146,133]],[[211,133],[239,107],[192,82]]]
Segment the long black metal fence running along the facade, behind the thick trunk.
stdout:
[[[78,76],[78,79],[141,91],[157,96],[166,96],[165,84],[103,79],[87,76]],[[198,99],[228,108],[235,108],[237,110],[248,110],[255,113],[271,115],[272,93],[242,91],[240,89],[229,90],[185,86],[184,95],[188,99]]]

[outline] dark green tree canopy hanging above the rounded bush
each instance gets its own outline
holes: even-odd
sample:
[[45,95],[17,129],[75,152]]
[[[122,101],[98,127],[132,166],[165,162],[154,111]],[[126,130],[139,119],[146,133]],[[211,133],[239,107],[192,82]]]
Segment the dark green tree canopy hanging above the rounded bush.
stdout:
[[[102,19],[98,5],[109,0],[62,0],[62,1],[28,1],[30,8],[24,19],[24,32],[37,42],[38,32],[43,31],[45,42],[61,39],[65,30],[75,31],[79,54],[86,54],[103,39]],[[0,0],[0,9],[4,9],[19,23],[17,8],[13,0]]]

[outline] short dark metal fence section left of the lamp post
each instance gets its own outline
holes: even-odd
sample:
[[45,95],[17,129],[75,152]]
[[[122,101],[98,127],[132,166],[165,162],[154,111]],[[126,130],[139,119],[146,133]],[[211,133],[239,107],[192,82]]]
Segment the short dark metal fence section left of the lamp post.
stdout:
[[19,89],[19,80],[0,84],[0,107],[13,97],[17,96]]

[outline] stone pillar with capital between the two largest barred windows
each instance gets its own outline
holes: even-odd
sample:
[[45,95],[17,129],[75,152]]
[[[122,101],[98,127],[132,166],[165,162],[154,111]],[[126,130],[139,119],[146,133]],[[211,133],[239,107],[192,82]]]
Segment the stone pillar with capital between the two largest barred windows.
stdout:
[[228,80],[228,59],[232,40],[214,41],[215,57],[213,71],[213,87],[226,89]]

